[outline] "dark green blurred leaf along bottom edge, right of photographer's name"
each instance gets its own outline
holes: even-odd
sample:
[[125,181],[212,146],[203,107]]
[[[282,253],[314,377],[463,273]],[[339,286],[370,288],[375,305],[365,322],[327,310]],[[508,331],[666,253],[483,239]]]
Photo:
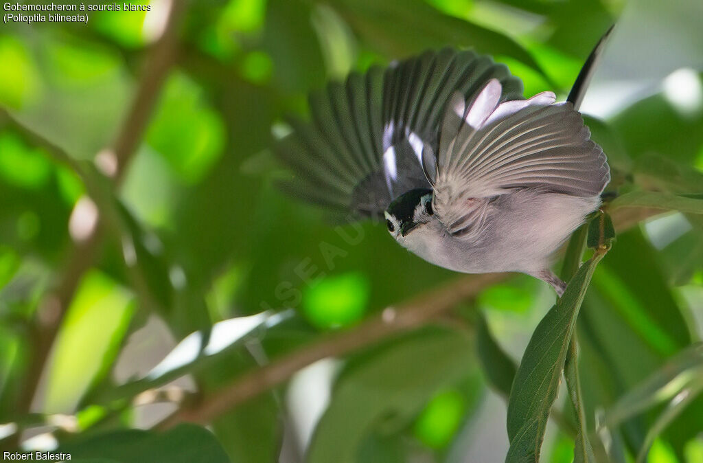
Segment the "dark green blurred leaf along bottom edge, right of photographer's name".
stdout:
[[180,424],[165,433],[136,429],[101,433],[61,445],[56,452],[71,459],[108,459],[120,463],[228,463],[230,460],[210,431]]

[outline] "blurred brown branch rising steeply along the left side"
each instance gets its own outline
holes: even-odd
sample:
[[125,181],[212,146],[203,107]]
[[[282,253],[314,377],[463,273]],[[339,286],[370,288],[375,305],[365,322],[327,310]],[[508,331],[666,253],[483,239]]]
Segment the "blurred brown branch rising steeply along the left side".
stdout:
[[[160,95],[160,89],[167,78],[169,70],[176,61],[178,32],[183,13],[183,0],[174,0],[169,11],[167,25],[160,39],[153,44],[147,53],[141,80],[136,89],[134,100],[131,103],[124,122],[117,134],[112,147],[105,149],[105,153],[112,153],[116,160],[115,170],[110,177],[115,180],[115,186],[124,177],[129,161],[141,141],[148,125],[150,115],[153,113],[155,103]],[[30,133],[27,129],[22,131],[25,135]],[[31,134],[30,134],[31,135]],[[38,135],[30,136],[30,140],[43,140]],[[60,152],[61,158],[70,159],[60,148],[48,144],[53,154]],[[76,288],[83,274],[88,270],[98,257],[98,250],[102,243],[102,227],[100,222],[93,232],[82,241],[75,243],[67,252],[65,272],[60,277],[53,290],[44,296],[37,310],[34,327],[34,351],[25,376],[25,387],[18,400],[18,412],[26,413],[30,409],[32,399],[37,393],[41,374],[44,372],[46,361],[49,358],[51,346],[56,340],[56,335],[61,322],[67,312],[68,306],[75,294]]]

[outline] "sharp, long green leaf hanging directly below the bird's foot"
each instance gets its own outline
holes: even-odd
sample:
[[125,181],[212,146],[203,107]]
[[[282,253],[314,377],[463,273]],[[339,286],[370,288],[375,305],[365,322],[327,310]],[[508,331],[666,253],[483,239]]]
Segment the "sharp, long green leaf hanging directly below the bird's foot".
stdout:
[[508,402],[510,450],[506,462],[537,462],[550,408],[557,397],[576,318],[596,265],[598,251],[574,275],[564,295],[538,324],[517,369]]

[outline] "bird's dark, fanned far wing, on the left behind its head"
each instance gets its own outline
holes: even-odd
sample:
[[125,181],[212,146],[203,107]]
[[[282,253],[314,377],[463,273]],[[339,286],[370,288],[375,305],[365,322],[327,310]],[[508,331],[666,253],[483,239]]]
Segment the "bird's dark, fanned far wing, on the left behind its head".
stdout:
[[472,99],[491,79],[501,82],[501,101],[522,98],[522,82],[504,65],[453,49],[328,85],[310,98],[310,122],[290,120],[292,132],[275,146],[292,171],[282,186],[337,213],[382,213],[396,196],[429,188],[422,153],[437,149],[450,96]]

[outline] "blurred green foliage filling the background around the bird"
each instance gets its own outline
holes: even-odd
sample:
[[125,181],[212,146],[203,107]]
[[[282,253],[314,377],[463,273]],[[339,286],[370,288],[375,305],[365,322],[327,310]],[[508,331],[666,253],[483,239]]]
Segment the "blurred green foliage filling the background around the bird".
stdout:
[[[501,395],[552,291],[511,275],[427,326],[369,334],[378,324],[366,320],[392,323],[392,307],[466,277],[375,224],[336,227],[272,186],[280,166],[269,146],[285,116],[304,115],[309,91],[351,70],[473,47],[508,64],[526,96],[564,99],[617,21],[582,108],[609,156],[610,190],[703,193],[695,0],[150,5],[90,13],[87,26],[0,28],[4,450],[58,446],[118,462],[503,461]],[[652,445],[649,462],[701,463],[703,219],[649,215],[618,230],[583,303],[583,404],[612,461]],[[302,360],[249,381],[256,393],[200,423],[212,433],[158,425],[289,358]],[[556,409],[543,461],[570,462],[564,391]],[[171,429],[139,430],[155,425]]]

